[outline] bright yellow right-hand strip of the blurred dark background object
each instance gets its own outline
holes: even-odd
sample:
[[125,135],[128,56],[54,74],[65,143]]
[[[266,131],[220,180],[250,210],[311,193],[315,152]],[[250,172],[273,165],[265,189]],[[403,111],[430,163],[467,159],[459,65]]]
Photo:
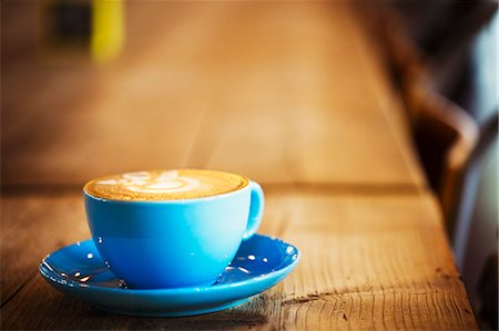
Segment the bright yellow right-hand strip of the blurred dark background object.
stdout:
[[120,54],[124,41],[122,0],[92,1],[91,54],[95,62],[106,62]]

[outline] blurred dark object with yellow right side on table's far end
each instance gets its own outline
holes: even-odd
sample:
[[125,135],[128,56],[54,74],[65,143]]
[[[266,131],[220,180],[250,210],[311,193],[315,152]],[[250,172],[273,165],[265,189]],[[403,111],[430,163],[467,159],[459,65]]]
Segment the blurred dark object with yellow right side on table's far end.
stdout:
[[124,43],[124,1],[44,0],[40,2],[39,46],[44,61],[105,63]]

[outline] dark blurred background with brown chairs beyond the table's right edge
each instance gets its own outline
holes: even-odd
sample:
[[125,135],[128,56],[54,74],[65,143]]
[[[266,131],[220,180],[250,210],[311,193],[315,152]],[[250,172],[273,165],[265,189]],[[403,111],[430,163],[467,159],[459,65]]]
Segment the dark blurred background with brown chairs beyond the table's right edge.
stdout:
[[388,1],[373,14],[483,329],[498,324],[498,2]]

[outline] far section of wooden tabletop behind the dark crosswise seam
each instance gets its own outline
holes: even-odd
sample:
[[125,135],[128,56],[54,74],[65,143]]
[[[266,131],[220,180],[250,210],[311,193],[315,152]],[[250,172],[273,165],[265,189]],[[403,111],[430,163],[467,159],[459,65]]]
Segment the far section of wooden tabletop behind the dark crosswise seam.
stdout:
[[424,185],[349,3],[126,6],[114,63],[3,61],[3,185],[184,166],[264,183]]

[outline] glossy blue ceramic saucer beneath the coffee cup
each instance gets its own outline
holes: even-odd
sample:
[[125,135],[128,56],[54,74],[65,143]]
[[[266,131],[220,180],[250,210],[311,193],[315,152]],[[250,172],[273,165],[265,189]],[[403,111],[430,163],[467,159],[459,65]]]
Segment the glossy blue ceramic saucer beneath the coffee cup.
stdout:
[[50,254],[39,269],[55,289],[99,309],[130,316],[182,317],[241,304],[283,280],[298,260],[296,247],[254,235],[243,241],[213,286],[134,290],[106,268],[93,241],[86,240]]

